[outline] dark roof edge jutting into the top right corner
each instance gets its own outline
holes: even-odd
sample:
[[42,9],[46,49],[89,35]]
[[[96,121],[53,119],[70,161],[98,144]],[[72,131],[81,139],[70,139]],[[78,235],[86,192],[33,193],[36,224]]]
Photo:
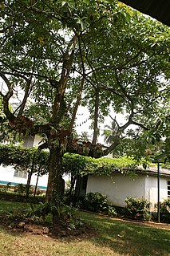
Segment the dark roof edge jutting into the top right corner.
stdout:
[[121,0],[121,2],[170,26],[169,0]]

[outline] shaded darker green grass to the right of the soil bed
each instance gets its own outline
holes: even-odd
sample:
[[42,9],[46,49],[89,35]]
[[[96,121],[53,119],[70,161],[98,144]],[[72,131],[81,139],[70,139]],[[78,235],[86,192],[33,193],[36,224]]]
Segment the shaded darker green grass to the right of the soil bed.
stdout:
[[118,221],[90,213],[80,213],[81,219],[99,230],[90,240],[115,253],[128,255],[170,255],[170,230],[160,230],[142,223]]

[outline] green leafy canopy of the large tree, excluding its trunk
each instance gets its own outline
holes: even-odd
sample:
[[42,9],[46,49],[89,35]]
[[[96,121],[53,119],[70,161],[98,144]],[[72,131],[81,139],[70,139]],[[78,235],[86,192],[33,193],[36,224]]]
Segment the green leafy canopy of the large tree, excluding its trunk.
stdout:
[[[92,123],[97,87],[99,120],[103,120],[112,107],[117,114],[127,112],[127,120],[133,114],[133,122],[147,124],[148,129],[154,130],[156,115],[161,112],[164,116],[166,108],[162,108],[162,103],[168,102],[169,78],[167,26],[110,0],[50,4],[44,1],[43,5],[35,2],[31,8],[30,2],[10,2],[6,10],[1,10],[1,15],[1,75],[9,76],[10,90],[14,93],[20,88],[24,92],[30,89],[23,115],[34,125],[50,126],[55,116],[53,102],[65,56],[69,68],[63,80],[62,103],[57,103],[61,109],[55,116],[57,121],[52,122],[57,125],[55,129],[69,127],[73,100],[79,94],[83,73],[85,86],[81,104],[89,108]],[[69,58],[71,51],[73,58]],[[28,80],[33,85],[31,88]],[[18,112],[14,114],[17,116]],[[43,128],[42,133],[49,132]]]

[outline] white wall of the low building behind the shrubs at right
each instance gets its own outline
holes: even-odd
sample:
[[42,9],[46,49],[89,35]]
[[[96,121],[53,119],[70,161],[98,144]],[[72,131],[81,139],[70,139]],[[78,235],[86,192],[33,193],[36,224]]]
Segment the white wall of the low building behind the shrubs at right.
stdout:
[[[167,181],[168,179],[160,177],[160,201],[168,198]],[[89,175],[86,193],[89,192],[103,193],[108,196],[109,203],[123,207],[126,206],[126,197],[144,197],[151,202],[150,209],[154,210],[157,203],[157,178],[140,175],[133,181],[131,177],[121,173],[100,177]]]

